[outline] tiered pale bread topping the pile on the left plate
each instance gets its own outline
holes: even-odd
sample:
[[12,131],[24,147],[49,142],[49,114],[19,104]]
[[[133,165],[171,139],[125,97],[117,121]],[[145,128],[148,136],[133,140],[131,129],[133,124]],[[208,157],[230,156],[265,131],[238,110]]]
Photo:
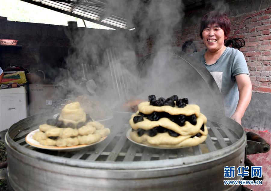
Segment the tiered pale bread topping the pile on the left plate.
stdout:
[[65,125],[72,123],[76,127],[78,123],[86,122],[86,113],[79,102],[72,102],[64,106],[58,120]]

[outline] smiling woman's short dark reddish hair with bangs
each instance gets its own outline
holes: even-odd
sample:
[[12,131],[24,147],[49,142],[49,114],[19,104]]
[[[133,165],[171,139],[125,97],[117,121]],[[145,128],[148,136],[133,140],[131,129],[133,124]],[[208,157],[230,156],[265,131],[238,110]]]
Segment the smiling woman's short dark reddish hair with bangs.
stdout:
[[217,23],[219,27],[224,31],[226,38],[229,37],[231,32],[231,21],[226,13],[220,11],[211,11],[205,14],[201,19],[200,36],[202,39],[202,31],[208,27],[208,25],[213,25]]

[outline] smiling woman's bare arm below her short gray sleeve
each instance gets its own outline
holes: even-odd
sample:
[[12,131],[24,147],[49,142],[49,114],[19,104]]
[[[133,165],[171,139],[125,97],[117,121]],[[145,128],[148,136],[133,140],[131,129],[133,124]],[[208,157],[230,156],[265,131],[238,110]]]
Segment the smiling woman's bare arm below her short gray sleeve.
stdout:
[[249,75],[239,74],[235,76],[238,90],[239,90],[239,101],[234,114],[231,118],[237,121],[241,125],[241,119],[245,114],[248,104],[251,100],[251,81]]

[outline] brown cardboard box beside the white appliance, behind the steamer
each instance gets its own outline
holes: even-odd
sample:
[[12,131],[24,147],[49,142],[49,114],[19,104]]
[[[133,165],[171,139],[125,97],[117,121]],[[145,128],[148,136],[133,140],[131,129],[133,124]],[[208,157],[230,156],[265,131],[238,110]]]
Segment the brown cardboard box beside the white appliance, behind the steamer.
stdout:
[[66,99],[67,89],[62,85],[29,85],[29,114],[54,110],[54,103]]

